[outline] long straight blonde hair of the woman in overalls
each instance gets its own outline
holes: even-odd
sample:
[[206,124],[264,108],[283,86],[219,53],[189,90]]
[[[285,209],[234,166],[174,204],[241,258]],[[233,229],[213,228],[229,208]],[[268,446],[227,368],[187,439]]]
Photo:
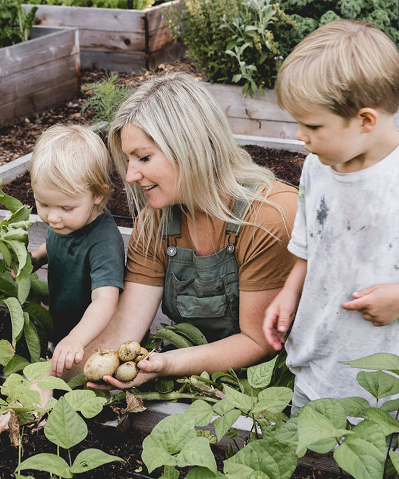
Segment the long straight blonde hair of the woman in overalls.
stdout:
[[[179,172],[175,189],[178,197],[184,198],[194,224],[196,208],[209,217],[240,224],[239,218],[230,218],[226,199],[241,199],[248,207],[254,200],[267,202],[267,195],[261,193],[270,190],[273,173],[256,165],[236,144],[223,110],[194,76],[182,72],[154,74],[120,106],[108,142],[124,180],[127,157],[121,148],[121,130],[126,125],[143,130]],[[136,184],[125,184],[134,216],[147,205],[146,196]],[[165,231],[172,206],[163,209],[157,239]],[[151,238],[155,211],[147,207],[144,222]]]

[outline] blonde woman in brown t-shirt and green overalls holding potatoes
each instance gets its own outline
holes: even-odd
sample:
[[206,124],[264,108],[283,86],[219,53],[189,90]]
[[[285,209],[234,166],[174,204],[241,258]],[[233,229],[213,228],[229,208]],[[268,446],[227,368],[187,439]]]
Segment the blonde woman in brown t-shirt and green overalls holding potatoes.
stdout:
[[262,322],[292,266],[286,245],[295,188],[252,162],[217,102],[184,73],[141,84],[119,108],[109,146],[132,215],[140,214],[117,313],[86,356],[141,341],[161,301],[164,313],[199,327],[208,344],[154,354],[130,383],[104,381],[130,388],[157,376],[239,369],[272,355]]

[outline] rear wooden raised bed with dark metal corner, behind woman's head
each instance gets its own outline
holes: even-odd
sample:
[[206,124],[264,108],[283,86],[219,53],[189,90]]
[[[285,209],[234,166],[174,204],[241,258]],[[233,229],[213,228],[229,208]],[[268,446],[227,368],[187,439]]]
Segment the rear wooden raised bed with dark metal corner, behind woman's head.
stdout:
[[83,68],[117,71],[154,69],[159,63],[179,58],[184,47],[173,40],[164,15],[180,6],[180,0],[145,8],[97,8],[62,5],[37,6],[37,21],[46,26],[79,29]]

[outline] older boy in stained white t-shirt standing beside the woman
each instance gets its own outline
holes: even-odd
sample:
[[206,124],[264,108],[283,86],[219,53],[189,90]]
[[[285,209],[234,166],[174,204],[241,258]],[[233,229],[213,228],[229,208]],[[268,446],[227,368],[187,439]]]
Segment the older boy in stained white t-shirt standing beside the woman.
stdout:
[[275,90],[310,152],[288,245],[296,263],[263,326],[281,349],[297,310],[285,345],[293,414],[322,397],[370,400],[340,361],[399,354],[399,53],[373,25],[335,20],[296,46]]

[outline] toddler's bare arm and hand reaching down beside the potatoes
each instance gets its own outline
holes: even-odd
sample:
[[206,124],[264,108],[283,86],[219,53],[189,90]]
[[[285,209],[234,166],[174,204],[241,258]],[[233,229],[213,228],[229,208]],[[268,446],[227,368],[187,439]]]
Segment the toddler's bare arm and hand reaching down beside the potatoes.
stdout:
[[52,357],[51,372],[61,376],[64,368],[71,369],[72,364],[83,359],[84,348],[107,327],[115,313],[119,298],[119,288],[103,286],[93,289],[92,302],[84,312],[82,319],[56,346]]

